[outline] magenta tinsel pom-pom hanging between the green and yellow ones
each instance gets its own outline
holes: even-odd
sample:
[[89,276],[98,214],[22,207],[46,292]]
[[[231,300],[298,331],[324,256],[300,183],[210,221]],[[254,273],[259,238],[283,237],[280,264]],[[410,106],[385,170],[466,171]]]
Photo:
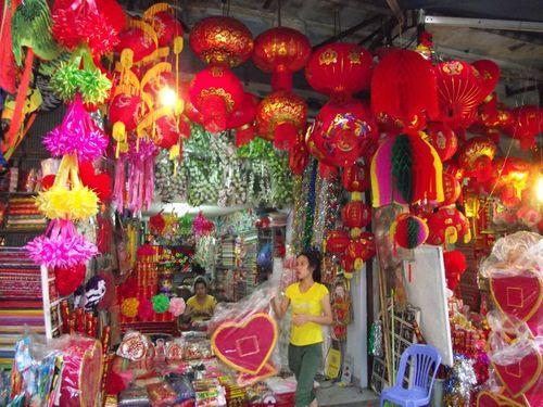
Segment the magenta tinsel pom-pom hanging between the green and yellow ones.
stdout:
[[80,161],[94,161],[108,148],[108,136],[90,117],[77,94],[62,124],[43,138],[43,145],[54,157],[76,154]]

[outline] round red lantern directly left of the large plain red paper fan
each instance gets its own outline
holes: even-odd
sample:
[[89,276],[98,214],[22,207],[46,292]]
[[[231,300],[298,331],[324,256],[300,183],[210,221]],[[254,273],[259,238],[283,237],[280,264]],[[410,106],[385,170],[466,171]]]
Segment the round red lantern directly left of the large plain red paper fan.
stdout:
[[332,99],[349,99],[369,87],[371,54],[355,43],[334,42],[310,56],[305,78],[313,89]]

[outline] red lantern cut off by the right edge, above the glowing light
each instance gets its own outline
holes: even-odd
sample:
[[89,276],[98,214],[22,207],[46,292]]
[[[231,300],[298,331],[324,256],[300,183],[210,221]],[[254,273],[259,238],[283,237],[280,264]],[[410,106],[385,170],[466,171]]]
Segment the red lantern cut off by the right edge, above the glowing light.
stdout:
[[512,110],[512,122],[504,131],[520,141],[522,149],[531,149],[535,137],[543,132],[543,109],[525,105]]

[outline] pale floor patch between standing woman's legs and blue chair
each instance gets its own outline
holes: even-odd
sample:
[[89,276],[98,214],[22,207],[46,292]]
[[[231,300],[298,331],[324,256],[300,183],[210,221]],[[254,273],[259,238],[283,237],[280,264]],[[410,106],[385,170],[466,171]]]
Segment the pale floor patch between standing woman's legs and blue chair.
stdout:
[[375,407],[379,405],[378,395],[370,389],[340,387],[331,382],[320,383],[317,399],[320,407]]

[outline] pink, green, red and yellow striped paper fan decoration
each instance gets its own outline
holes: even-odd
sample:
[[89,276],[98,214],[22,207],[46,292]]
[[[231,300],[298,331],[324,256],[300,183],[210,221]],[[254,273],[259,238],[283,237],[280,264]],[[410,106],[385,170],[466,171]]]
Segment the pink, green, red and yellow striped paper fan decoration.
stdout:
[[392,203],[443,202],[442,164],[421,137],[390,137],[371,160],[374,207]]

